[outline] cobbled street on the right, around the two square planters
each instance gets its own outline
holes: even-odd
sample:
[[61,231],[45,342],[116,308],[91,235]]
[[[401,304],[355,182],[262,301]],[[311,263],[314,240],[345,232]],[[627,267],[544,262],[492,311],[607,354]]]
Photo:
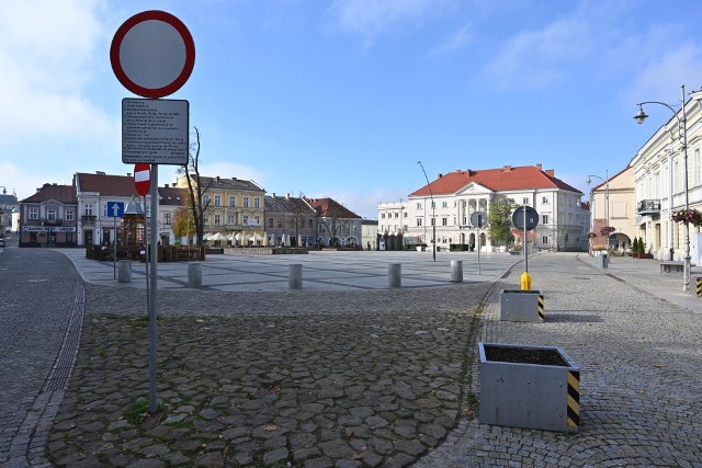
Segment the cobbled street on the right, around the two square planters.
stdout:
[[[464,418],[417,467],[702,467],[702,303],[684,308],[649,293],[677,289],[680,278],[646,274],[641,265],[623,274],[636,260],[614,260],[615,273],[631,281],[624,282],[579,258],[530,260],[532,288],[545,296],[544,323],[499,320],[499,292],[513,288],[516,269],[491,290],[478,333],[489,343],[561,346],[580,366],[579,432]],[[474,362],[466,387],[479,399],[477,373]]]

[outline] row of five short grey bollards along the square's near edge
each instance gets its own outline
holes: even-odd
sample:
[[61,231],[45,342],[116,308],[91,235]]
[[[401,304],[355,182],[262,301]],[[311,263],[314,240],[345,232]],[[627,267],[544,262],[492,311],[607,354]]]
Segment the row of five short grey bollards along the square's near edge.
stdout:
[[[120,283],[132,283],[132,261],[120,260],[117,269],[117,281]],[[451,261],[451,282],[463,282],[463,261]],[[188,286],[202,286],[202,263],[192,262],[188,264]],[[388,263],[387,265],[387,287],[398,288],[403,286],[403,264]],[[291,290],[303,288],[303,265],[295,263],[287,265],[287,288]]]

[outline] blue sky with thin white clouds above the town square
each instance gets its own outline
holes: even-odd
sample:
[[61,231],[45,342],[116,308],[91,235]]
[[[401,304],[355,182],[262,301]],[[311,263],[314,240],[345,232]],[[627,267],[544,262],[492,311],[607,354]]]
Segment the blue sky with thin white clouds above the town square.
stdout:
[[[542,163],[588,193],[702,87],[702,5],[670,0],[0,0],[0,185],[20,198],[122,163],[110,43],[185,23],[203,175],[331,196],[375,219],[456,169]],[[159,184],[174,182],[161,165]]]

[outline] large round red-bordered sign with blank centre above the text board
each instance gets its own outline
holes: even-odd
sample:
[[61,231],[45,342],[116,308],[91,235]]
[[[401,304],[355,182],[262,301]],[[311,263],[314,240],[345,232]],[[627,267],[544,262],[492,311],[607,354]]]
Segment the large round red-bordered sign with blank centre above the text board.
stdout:
[[159,10],[125,21],[110,46],[117,80],[134,94],[163,98],[178,91],[195,66],[195,43],[178,18]]

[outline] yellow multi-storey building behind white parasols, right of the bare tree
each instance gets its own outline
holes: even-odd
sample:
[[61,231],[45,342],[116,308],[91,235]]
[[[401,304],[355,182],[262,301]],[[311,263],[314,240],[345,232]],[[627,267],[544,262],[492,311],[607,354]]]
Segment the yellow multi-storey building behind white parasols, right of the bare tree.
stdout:
[[[194,178],[191,179],[193,182]],[[200,176],[205,233],[219,232],[231,246],[261,246],[265,239],[265,191],[253,181]],[[185,175],[177,185],[188,189]],[[223,242],[224,243],[224,242]]]

